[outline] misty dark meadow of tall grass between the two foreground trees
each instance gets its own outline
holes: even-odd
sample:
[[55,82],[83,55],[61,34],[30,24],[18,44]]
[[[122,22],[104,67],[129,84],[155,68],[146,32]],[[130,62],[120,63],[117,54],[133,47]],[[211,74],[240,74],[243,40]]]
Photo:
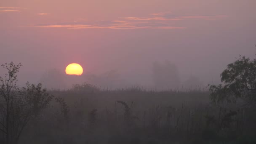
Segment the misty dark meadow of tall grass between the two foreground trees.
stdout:
[[154,91],[74,85],[21,135],[20,144],[255,144],[256,109],[212,104],[208,89]]

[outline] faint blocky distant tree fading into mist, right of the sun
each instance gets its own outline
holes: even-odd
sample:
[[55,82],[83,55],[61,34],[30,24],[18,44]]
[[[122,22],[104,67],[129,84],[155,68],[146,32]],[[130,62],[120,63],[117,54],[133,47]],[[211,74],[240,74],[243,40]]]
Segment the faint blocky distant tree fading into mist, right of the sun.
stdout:
[[163,64],[155,61],[152,78],[156,88],[176,88],[180,84],[178,68],[170,61]]

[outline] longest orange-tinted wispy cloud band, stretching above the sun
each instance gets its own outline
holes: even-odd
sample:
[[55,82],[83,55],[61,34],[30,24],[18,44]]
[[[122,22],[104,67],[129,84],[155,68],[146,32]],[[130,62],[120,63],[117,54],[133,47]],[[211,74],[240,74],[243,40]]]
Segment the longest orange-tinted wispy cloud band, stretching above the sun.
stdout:
[[[41,28],[66,28],[66,29],[186,29],[186,26],[180,26],[180,22],[175,21],[197,21],[216,20],[225,15],[217,16],[174,16],[170,12],[152,13],[147,17],[121,17],[112,21],[73,21],[62,24],[41,24],[31,25],[29,27]],[[42,13],[40,15],[46,15]],[[178,25],[178,26],[177,26]],[[184,25],[184,24],[182,24]],[[189,26],[188,26],[189,27]]]

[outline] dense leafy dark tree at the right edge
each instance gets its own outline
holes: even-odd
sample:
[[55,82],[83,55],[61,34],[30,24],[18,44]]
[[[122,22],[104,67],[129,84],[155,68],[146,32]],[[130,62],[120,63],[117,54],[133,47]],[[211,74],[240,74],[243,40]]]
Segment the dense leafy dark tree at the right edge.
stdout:
[[256,104],[256,59],[240,56],[221,73],[221,82],[224,84],[210,85],[213,103],[241,99],[247,105]]

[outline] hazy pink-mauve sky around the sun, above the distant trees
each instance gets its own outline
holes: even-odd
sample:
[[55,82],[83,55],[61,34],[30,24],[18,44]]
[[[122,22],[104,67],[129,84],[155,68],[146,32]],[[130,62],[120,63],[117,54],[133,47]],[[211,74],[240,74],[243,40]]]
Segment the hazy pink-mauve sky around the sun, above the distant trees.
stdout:
[[[239,55],[256,54],[256,0],[1,0],[0,63],[21,62],[21,82],[78,63],[151,85],[152,63],[181,80],[219,83]],[[5,71],[0,68],[0,75]],[[85,80],[86,81],[86,80]]]

